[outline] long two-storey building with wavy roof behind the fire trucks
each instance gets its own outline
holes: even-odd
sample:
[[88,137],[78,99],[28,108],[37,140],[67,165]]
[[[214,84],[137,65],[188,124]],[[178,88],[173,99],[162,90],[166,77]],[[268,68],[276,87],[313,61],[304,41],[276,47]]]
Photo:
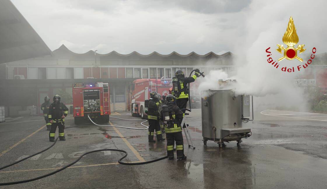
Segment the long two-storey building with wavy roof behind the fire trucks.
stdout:
[[[102,81],[110,84],[111,111],[129,111],[129,86],[133,80],[171,79],[178,69],[183,70],[185,75],[195,68],[205,73],[218,69],[231,73],[234,71],[232,58],[230,52],[223,55],[213,52],[205,55],[194,52],[187,55],[176,52],[169,55],[157,52],[142,55],[135,51],[127,55],[115,51],[108,54],[97,54],[94,51],[77,54],[61,45],[51,55],[3,64],[0,87],[4,90],[0,95],[7,100],[1,104],[8,107],[22,106],[18,109],[30,105],[39,107],[44,96],[51,97],[54,94],[64,95],[65,103],[71,104],[69,95],[72,95],[74,82]],[[26,99],[21,92],[32,95]],[[16,109],[11,109],[14,114]]]

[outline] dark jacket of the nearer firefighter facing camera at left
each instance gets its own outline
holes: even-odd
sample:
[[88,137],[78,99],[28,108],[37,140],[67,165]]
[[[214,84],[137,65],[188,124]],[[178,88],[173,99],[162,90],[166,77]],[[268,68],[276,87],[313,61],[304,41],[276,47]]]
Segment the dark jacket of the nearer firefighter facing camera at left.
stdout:
[[[61,116],[64,115],[65,117],[68,114],[68,108],[62,102],[60,103],[52,103],[49,107],[48,118],[49,121],[53,121],[53,123],[61,122]],[[62,119],[65,121],[65,119]]]

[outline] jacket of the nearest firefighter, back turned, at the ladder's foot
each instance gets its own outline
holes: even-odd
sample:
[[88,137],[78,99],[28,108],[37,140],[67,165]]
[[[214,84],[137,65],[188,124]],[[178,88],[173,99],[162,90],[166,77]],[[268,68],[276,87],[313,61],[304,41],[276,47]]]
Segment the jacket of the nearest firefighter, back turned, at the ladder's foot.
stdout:
[[167,106],[169,109],[171,109],[171,113],[174,119],[174,127],[165,128],[165,132],[172,133],[182,131],[181,122],[183,120],[183,112],[175,103],[168,103]]

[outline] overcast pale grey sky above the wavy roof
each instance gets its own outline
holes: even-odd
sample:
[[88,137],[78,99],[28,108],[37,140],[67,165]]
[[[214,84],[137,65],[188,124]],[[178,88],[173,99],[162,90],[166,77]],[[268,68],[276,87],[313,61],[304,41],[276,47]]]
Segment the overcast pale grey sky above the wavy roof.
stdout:
[[[265,48],[282,43],[289,16],[294,18],[299,43],[305,41],[303,36],[307,36],[306,43],[327,41],[326,37],[314,37],[315,33],[326,36],[326,1],[309,4],[311,1],[301,0],[288,3],[278,0],[12,2],[51,50],[65,44],[76,53],[98,50],[98,53],[106,54],[115,50],[122,54],[132,51],[141,54],[153,51],[206,54],[213,51],[221,54],[251,46],[261,34],[271,31],[276,38],[272,44],[263,44]],[[309,34],[312,37],[309,38]],[[321,46],[320,49],[326,51],[325,45]]]

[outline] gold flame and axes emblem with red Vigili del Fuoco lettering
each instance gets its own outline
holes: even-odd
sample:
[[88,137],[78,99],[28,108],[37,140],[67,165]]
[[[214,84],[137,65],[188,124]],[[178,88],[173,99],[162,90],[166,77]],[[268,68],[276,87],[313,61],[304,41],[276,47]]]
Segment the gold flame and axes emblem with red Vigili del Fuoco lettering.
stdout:
[[[283,36],[283,43],[287,45],[285,48],[284,45],[277,44],[277,49],[276,51],[283,54],[284,56],[278,59],[278,61],[282,61],[284,59],[287,60],[294,60],[297,59],[301,62],[303,62],[303,59],[299,56],[299,54],[303,53],[306,49],[304,48],[304,44],[299,44],[297,48],[294,46],[299,43],[299,36],[296,33],[296,28],[294,25],[293,18],[289,18],[289,22],[286,28],[286,32],[284,33]],[[279,62],[275,61],[272,59],[271,55],[272,53],[269,51],[270,47],[266,49],[266,53],[268,53],[267,57],[267,62],[271,65],[273,65],[275,68],[279,67]],[[291,67],[291,66],[285,66],[281,68],[281,71],[283,72],[295,72],[295,70],[300,71],[301,69],[305,69],[308,67],[311,63],[312,60],[315,58],[315,53],[316,53],[316,47],[312,48],[312,54],[310,56],[310,59],[306,61],[305,64],[300,64],[296,68]]]

